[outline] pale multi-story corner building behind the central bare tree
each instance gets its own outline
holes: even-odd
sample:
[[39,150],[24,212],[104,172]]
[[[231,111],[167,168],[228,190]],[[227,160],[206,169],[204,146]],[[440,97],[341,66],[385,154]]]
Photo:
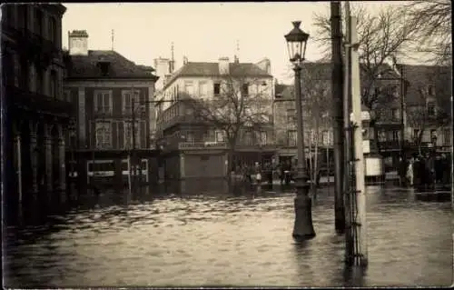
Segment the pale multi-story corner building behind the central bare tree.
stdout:
[[[226,57],[220,58],[218,63],[188,62],[185,59],[183,66],[167,78],[162,94],[157,96],[163,101],[157,106],[157,135],[166,153],[167,179],[221,177],[232,168],[227,165],[225,133],[209,122],[194,118],[183,99],[187,96],[203,100],[222,99],[222,88],[231,81],[241,83],[242,95],[260,93],[262,99],[268,100],[265,106],[271,116],[273,79],[270,65],[268,59],[258,64],[240,63],[236,57],[232,63]],[[271,158],[274,153],[274,146],[270,145],[273,144],[272,117],[265,123],[260,132],[247,130],[246,126],[242,128],[235,145],[237,161],[234,163]]]

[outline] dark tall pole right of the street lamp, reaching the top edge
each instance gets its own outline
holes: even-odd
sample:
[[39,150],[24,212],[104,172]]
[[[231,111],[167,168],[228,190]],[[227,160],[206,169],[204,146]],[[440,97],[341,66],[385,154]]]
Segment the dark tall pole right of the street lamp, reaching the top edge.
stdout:
[[[334,225],[336,232],[345,230],[345,208],[343,205],[343,88],[342,88],[342,33],[341,2],[331,2],[331,54],[332,54],[332,104],[334,105]],[[327,155],[328,156],[328,155]],[[327,157],[328,158],[328,157]],[[328,159],[327,159],[328,161]]]

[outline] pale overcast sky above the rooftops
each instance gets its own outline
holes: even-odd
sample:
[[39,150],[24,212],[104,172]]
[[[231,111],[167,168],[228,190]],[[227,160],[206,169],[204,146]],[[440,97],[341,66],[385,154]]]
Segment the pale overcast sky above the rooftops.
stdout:
[[[399,2],[361,2],[370,11]],[[216,62],[221,56],[233,59],[239,44],[240,62],[271,60],[271,74],[288,82],[288,53],[283,35],[291,21],[301,20],[310,35],[314,13],[328,12],[330,2],[280,3],[131,3],[64,4],[63,45],[68,31],[86,30],[88,48],[111,49],[140,65],[153,65],[157,57],[171,57],[174,45],[176,68],[189,61]],[[357,5],[352,2],[351,5]],[[321,57],[320,48],[308,42],[306,58]]]

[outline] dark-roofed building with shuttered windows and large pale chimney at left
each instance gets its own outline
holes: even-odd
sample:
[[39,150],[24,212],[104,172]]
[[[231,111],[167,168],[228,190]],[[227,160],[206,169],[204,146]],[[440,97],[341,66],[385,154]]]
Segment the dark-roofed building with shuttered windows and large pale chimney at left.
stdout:
[[87,172],[93,175],[102,167],[98,163],[107,168],[106,162],[119,170],[122,165],[116,163],[126,163],[125,152],[153,148],[151,101],[158,77],[151,66],[136,65],[114,50],[89,50],[84,30],[68,33],[68,37],[64,95],[77,107],[71,142],[73,151],[80,153],[76,160],[82,164],[77,171],[82,173],[80,178],[87,178]]

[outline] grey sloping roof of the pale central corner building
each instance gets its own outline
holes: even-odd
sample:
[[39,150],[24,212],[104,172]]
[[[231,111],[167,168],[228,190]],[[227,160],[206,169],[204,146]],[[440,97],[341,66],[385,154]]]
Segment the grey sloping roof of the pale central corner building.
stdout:
[[[229,72],[229,75],[232,77],[272,77],[272,75],[262,70],[258,65],[250,63],[229,63]],[[182,76],[221,76],[219,73],[219,63],[188,62],[173,73],[165,86],[172,84],[175,79]]]

